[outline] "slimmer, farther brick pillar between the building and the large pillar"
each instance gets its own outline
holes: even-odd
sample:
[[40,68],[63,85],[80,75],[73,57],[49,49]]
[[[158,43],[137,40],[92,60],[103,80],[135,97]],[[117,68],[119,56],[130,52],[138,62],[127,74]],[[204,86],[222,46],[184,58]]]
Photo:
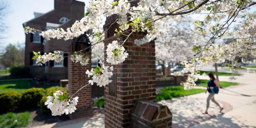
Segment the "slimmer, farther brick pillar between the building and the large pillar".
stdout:
[[[69,47],[69,52],[79,51],[84,48],[86,48],[85,42],[82,44],[77,44],[77,48],[75,42],[73,42]],[[88,84],[90,78],[88,78],[85,74],[86,70],[88,69],[91,69],[90,61],[86,66],[82,66],[80,63],[73,63],[70,58],[68,59],[68,92],[70,95],[75,93],[84,85]],[[93,112],[91,110],[91,85],[89,84],[87,87],[84,87],[75,96],[79,96],[79,102],[76,106],[75,113],[69,114],[70,118],[73,119],[84,116],[92,116]]]

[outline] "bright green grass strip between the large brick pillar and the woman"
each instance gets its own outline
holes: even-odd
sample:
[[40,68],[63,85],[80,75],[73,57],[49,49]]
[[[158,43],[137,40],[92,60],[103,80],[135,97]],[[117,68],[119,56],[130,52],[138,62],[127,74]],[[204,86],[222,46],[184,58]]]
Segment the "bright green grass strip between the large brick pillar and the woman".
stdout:
[[161,93],[157,94],[156,101],[158,102],[163,99],[172,99],[176,97],[189,96],[192,94],[202,93],[204,91],[204,89],[184,90],[183,86],[165,87],[162,89]]

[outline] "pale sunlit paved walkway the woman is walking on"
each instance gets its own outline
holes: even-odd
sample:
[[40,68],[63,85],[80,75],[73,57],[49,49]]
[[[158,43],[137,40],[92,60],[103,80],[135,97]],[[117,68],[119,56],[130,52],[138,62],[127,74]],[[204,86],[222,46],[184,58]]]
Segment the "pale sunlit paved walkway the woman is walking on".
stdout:
[[[215,96],[224,106],[223,113],[210,102],[209,115],[202,114],[208,94],[199,93],[158,103],[167,105],[173,113],[173,128],[256,128],[256,73],[237,76],[238,86],[221,89]],[[208,79],[200,76],[200,79]],[[230,81],[228,76],[220,76],[220,81]],[[104,128],[104,116],[70,120],[44,125],[40,128]]]

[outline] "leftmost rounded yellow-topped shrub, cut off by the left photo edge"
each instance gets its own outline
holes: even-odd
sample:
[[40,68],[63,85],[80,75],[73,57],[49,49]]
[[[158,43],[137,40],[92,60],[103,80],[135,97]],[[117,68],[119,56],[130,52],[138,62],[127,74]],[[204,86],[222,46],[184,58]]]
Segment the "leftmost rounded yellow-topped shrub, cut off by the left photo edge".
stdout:
[[0,112],[14,111],[20,103],[21,93],[4,91],[0,93]]

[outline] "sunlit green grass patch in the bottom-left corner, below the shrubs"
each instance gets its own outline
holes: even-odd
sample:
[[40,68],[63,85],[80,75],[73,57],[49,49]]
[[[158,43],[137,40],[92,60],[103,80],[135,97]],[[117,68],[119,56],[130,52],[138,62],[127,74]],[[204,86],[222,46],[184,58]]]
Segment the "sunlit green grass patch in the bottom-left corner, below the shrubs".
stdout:
[[0,128],[21,128],[29,123],[30,112],[5,113],[0,115]]

